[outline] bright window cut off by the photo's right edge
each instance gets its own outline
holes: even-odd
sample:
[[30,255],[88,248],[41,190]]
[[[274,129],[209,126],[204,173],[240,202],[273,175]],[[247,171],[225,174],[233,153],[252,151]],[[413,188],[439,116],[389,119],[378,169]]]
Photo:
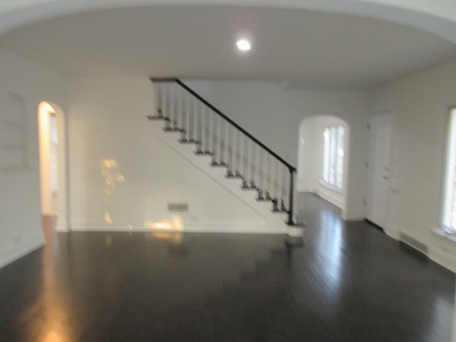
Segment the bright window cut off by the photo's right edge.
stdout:
[[443,194],[442,227],[456,234],[456,109],[450,112]]

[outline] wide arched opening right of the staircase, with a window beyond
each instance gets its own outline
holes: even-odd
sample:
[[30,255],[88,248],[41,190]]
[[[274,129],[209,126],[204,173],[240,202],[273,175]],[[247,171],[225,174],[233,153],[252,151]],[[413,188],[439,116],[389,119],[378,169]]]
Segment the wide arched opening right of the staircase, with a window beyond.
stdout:
[[346,211],[350,126],[336,116],[305,118],[299,125],[296,188]]

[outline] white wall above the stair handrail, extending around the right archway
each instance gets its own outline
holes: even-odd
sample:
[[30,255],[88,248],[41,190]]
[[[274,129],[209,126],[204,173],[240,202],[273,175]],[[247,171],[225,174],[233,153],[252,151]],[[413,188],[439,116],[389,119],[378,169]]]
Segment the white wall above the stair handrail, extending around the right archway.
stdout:
[[364,217],[368,95],[357,91],[285,90],[275,83],[186,81],[291,165],[297,165],[299,125],[304,118],[336,116],[350,130],[346,219]]

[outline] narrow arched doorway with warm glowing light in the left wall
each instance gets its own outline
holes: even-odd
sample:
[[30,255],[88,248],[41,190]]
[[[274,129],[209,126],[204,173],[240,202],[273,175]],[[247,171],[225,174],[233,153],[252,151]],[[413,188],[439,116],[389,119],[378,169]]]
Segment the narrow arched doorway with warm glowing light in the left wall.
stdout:
[[41,214],[43,227],[67,231],[66,129],[63,110],[55,103],[38,105]]

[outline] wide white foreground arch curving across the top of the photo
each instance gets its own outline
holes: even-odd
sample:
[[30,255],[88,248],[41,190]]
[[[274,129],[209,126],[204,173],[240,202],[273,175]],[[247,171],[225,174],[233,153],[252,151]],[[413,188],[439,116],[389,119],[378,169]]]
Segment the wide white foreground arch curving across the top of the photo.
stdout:
[[420,28],[456,43],[456,1],[452,0],[4,0],[0,35],[56,16],[144,5],[262,6],[356,14]]

